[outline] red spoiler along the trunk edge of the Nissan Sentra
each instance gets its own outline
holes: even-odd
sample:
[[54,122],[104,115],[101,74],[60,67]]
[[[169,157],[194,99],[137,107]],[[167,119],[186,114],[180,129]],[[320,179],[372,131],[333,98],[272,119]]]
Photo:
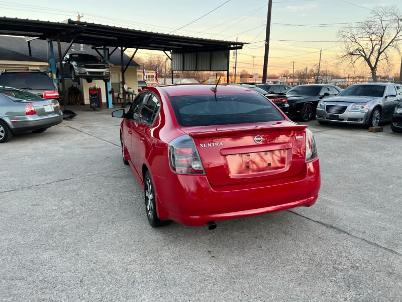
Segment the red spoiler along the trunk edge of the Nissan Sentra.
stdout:
[[[222,129],[220,129],[222,128]],[[192,138],[206,138],[206,137],[218,137],[233,134],[255,134],[256,132],[278,132],[278,131],[303,131],[307,128],[307,125],[278,125],[278,126],[255,126],[253,128],[237,128],[237,129],[224,129],[223,126],[218,126],[215,131],[207,132],[190,132],[189,136]]]

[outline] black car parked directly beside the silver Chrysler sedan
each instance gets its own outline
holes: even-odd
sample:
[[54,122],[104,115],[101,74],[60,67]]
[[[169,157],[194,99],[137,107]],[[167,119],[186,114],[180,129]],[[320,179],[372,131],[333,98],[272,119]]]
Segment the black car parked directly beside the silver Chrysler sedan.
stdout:
[[324,97],[336,96],[342,91],[335,85],[306,84],[293,87],[286,93],[290,118],[310,121],[316,116],[318,102]]

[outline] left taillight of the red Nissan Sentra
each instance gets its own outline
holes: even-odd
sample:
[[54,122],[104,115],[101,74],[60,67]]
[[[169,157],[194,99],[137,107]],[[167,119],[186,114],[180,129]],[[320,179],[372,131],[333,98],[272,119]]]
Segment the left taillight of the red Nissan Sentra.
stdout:
[[188,135],[173,139],[169,143],[169,164],[178,174],[204,174],[194,141]]

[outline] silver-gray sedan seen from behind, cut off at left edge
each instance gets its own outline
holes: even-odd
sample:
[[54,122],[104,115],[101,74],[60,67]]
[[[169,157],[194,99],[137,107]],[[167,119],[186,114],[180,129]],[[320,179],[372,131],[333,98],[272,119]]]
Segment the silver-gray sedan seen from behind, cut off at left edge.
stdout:
[[0,143],[14,134],[43,132],[63,121],[57,100],[43,99],[28,91],[0,87]]

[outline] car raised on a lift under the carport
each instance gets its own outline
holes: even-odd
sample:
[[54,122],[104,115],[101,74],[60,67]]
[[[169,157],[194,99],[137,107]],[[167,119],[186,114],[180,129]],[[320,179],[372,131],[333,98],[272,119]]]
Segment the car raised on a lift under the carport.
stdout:
[[88,83],[92,80],[110,81],[110,65],[103,58],[88,53],[67,53],[61,61],[61,67],[59,63],[56,64],[58,78],[60,71],[73,82],[78,82],[79,79],[85,79]]

